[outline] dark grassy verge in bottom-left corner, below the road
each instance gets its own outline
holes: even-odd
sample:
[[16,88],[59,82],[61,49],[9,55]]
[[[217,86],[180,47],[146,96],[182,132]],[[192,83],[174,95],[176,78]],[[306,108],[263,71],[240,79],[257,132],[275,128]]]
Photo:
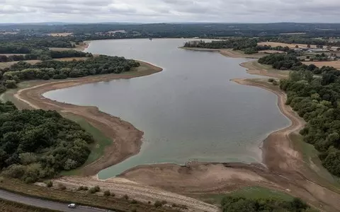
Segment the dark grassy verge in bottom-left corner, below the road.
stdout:
[[58,212],[55,210],[50,210],[47,208],[38,208],[35,206],[28,206],[25,204],[20,204],[13,201],[8,201],[6,199],[0,199],[0,209],[1,211],[5,212],[19,212],[19,211],[26,211],[26,212]]

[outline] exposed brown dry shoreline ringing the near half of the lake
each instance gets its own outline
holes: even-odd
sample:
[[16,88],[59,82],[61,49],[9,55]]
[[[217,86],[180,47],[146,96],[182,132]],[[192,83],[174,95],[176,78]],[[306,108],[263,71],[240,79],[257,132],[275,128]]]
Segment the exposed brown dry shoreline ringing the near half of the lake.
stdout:
[[[149,64],[149,66],[152,65]],[[156,68],[154,67],[154,69]],[[162,70],[157,69],[157,71],[154,70],[149,73],[140,72],[133,76],[125,76],[123,74],[114,76],[113,78],[145,76],[158,71]],[[261,73],[261,71],[259,71],[259,73]],[[137,153],[140,148],[142,132],[118,117],[113,117],[98,111],[96,107],[64,104],[48,100],[41,95],[48,90],[113,79],[108,77],[110,76],[45,83],[33,88],[20,90],[16,94],[16,98],[26,101],[26,103],[29,103],[35,108],[57,110],[62,114],[69,112],[77,114],[103,131],[106,136],[118,139],[115,143],[120,143],[121,145],[108,148],[102,158],[84,168],[84,175],[94,175],[104,167],[108,167],[110,164],[113,165],[113,162],[124,160],[125,157]],[[271,133],[267,139],[263,141],[263,162],[266,164],[266,167],[256,163],[250,165],[244,163],[193,163],[188,166],[155,164],[134,167],[120,175],[120,177],[124,179],[116,177],[103,181],[92,178],[90,180],[87,177],[72,177],[71,179],[62,177],[61,179],[57,179],[57,181],[65,182],[66,184],[67,181],[69,184],[74,184],[74,181],[77,181],[78,184],[87,186],[94,186],[94,184],[103,185],[103,182],[112,182],[111,185],[108,184],[108,188],[113,192],[121,192],[122,184],[115,181],[129,179],[131,180],[129,183],[135,183],[134,192],[136,195],[142,194],[147,190],[147,192],[152,193],[154,196],[157,196],[157,192],[152,191],[150,187],[144,188],[142,185],[159,187],[171,192],[188,195],[216,192],[226,193],[247,185],[259,185],[288,192],[293,196],[299,196],[316,207],[322,204],[322,208],[327,209],[327,211],[339,211],[340,195],[310,182],[300,170],[301,165],[303,165],[301,155],[291,146],[292,143],[288,135],[298,131],[300,127],[303,126],[303,122],[290,107],[284,104],[285,93],[280,90],[273,90],[273,86],[265,81],[247,79],[234,79],[234,81],[247,86],[258,86],[276,93],[276,95],[278,95],[278,106],[281,112],[292,121],[290,126]],[[118,132],[121,134],[118,134]],[[133,133],[131,134],[131,132]],[[115,152],[119,152],[119,154],[116,155]],[[118,158],[120,158],[120,160],[118,160]],[[142,197],[138,198],[142,199]],[[164,199],[166,199],[166,197],[164,197]],[[183,200],[181,203],[188,204],[188,201]],[[195,208],[194,204],[192,207]],[[200,210],[197,209],[196,211]],[[211,211],[216,211],[216,208],[212,208]]]

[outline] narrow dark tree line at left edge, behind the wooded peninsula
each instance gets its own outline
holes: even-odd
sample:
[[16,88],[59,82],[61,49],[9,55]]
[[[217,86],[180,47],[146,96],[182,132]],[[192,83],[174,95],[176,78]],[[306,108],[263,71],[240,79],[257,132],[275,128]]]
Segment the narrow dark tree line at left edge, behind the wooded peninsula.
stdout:
[[23,61],[23,60],[47,60],[64,57],[93,57],[91,53],[79,52],[75,50],[52,51],[52,50],[33,50],[30,54],[0,55],[0,62]]

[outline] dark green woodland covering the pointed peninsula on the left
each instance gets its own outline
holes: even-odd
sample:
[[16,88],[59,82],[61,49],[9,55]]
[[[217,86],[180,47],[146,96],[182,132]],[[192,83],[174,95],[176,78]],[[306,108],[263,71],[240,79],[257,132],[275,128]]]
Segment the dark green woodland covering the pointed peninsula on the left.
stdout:
[[16,83],[33,79],[64,79],[77,78],[104,73],[122,73],[130,71],[132,67],[140,66],[140,63],[124,57],[109,57],[100,55],[89,57],[86,60],[74,61],[41,61],[37,64],[29,64],[19,61],[10,68],[0,69],[1,85],[0,93],[6,88],[16,88]]

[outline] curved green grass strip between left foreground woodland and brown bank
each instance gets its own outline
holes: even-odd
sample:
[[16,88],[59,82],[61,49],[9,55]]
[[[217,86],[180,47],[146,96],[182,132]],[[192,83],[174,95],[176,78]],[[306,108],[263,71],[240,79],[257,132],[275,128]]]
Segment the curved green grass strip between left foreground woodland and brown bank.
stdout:
[[[86,162],[81,167],[84,167],[100,158],[101,155],[104,154],[106,146],[110,146],[112,144],[113,141],[111,139],[108,139],[101,131],[96,129],[96,127],[89,124],[89,122],[86,122],[85,119],[74,114],[67,114],[65,117],[67,119],[71,119],[74,122],[77,122],[83,129],[94,136],[94,141],[96,141],[90,147],[91,153],[89,155],[89,158],[87,158]],[[79,175],[81,173],[81,167],[75,170],[61,172],[61,175]]]

